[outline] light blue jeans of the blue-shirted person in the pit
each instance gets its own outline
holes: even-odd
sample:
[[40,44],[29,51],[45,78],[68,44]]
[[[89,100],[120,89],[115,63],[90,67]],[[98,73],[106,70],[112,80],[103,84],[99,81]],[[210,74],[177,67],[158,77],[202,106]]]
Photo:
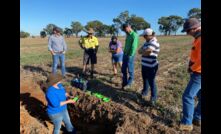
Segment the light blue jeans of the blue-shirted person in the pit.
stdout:
[[67,109],[60,113],[49,115],[49,118],[54,124],[53,134],[60,133],[62,121],[64,122],[65,127],[69,133],[76,134],[76,130],[71,124],[71,120],[70,120]]

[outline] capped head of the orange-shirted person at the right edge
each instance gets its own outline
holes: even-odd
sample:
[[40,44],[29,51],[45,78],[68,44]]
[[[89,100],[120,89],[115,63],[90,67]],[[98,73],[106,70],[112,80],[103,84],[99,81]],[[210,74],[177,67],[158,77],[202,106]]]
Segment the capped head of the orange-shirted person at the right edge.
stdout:
[[194,36],[196,32],[201,30],[201,23],[196,18],[190,18],[183,24],[182,32],[186,32],[188,35]]

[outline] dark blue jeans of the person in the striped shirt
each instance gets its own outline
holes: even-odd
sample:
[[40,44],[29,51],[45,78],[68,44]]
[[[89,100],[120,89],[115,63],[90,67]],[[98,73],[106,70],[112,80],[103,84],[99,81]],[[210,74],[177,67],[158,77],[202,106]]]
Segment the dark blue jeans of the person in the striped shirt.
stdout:
[[155,67],[142,66],[142,77],[143,77],[142,95],[146,96],[148,94],[148,89],[150,86],[151,101],[156,101],[157,99],[157,86],[155,82],[157,70],[158,70],[158,65],[156,65]]

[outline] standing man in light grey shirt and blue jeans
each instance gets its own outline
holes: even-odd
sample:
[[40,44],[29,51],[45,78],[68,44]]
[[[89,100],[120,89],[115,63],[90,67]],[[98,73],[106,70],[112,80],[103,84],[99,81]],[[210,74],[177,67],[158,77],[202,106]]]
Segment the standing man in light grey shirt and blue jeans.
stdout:
[[57,27],[53,28],[53,34],[48,39],[48,50],[52,54],[52,73],[56,74],[58,60],[60,59],[62,76],[65,77],[65,52],[67,51],[67,44]]

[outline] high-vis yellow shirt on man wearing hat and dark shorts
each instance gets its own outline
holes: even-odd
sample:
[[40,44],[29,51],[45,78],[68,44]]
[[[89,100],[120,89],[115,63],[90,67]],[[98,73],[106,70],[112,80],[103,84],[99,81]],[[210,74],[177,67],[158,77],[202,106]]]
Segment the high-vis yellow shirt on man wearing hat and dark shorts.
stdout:
[[92,36],[92,38],[84,37],[82,41],[82,46],[86,49],[95,49],[95,47],[98,46],[98,39],[94,36]]

